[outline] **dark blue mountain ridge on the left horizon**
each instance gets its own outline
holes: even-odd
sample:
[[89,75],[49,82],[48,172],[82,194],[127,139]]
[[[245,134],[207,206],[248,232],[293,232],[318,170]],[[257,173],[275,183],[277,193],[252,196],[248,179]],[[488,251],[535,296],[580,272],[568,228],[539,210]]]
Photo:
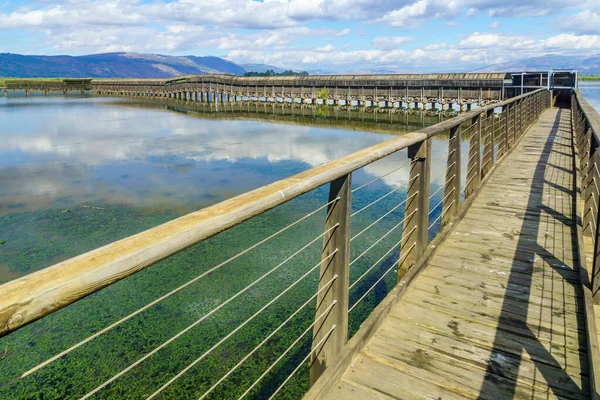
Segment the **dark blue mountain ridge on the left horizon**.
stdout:
[[243,75],[245,72],[234,62],[210,56],[104,53],[72,57],[0,53],[0,76],[14,78],[168,78],[208,73]]

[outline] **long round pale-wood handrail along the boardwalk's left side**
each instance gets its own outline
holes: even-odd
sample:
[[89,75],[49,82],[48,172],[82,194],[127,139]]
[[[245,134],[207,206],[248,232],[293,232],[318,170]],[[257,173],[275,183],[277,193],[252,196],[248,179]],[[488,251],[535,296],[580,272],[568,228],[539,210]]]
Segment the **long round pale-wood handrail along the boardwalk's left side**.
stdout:
[[8,282],[0,286],[0,337],[374,161],[544,91],[538,89],[371,146]]

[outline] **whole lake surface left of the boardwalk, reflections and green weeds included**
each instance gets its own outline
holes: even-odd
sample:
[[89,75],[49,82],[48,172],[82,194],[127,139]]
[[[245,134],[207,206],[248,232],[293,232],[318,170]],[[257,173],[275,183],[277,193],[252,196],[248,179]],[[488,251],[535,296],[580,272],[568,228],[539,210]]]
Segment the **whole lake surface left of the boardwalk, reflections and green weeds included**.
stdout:
[[[0,99],[0,283],[439,121],[437,116],[351,115],[267,105],[202,107],[94,97]],[[463,146],[466,160],[467,143]],[[447,139],[434,140],[432,206],[441,199],[437,189],[444,181],[446,153]],[[407,163],[406,151],[401,151],[353,174],[353,186],[358,187],[404,166],[354,194],[353,210],[357,211],[394,191],[352,220],[356,234],[390,213],[352,243],[352,258],[360,260],[351,269],[351,282],[357,282],[351,304],[389,272],[351,314],[352,332],[395,282],[391,271],[398,260],[398,222],[403,217],[403,207],[396,206],[406,196]],[[40,394],[48,399],[78,398],[94,389],[299,251],[322,233],[324,213],[42,370],[18,377],[317,209],[326,198],[326,187],[304,195],[0,339],[0,398]],[[430,218],[439,212],[434,209]],[[393,234],[374,245],[387,232]],[[149,395],[318,265],[321,242],[317,240],[247,296],[220,309],[97,398]],[[174,383],[163,398],[199,397],[302,305],[315,292],[317,279],[318,272],[310,275],[264,317],[248,324]],[[311,304],[210,398],[243,392],[313,317]],[[264,398],[275,390],[309,347],[307,335],[249,398]],[[280,397],[297,398],[307,384],[303,368]]]

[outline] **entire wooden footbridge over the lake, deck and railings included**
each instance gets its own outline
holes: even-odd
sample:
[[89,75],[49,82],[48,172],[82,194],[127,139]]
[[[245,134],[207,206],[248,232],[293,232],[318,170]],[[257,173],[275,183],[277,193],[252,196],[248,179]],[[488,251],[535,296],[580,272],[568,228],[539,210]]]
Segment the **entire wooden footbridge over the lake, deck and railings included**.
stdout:
[[[190,93],[186,90],[195,84],[206,87],[202,86],[205,81],[187,79],[170,82],[176,89],[168,93]],[[114,94],[110,82],[103,85],[107,94]],[[208,82],[209,87],[213,83]],[[218,90],[242,90],[232,89],[234,83],[220,81]],[[489,88],[465,90],[463,94],[475,97],[490,93],[489,100],[494,102],[6,283],[0,286],[0,335],[10,335],[219,232],[327,185],[327,201],[290,225],[326,210],[322,229],[312,232],[314,239],[302,248],[322,242],[321,261],[221,340],[211,343],[207,353],[220,345],[235,346],[224,341],[257,315],[269,313],[269,306],[283,301],[282,296],[311,271],[320,271],[312,297],[279,327],[264,332],[260,338],[264,340],[247,356],[204,383],[200,398],[227,380],[255,351],[268,346],[281,327],[310,305],[315,317],[309,327],[285,351],[274,355],[258,380],[240,388],[244,391],[240,398],[260,386],[261,379],[304,337],[310,340],[310,350],[297,360],[295,368],[286,369],[286,376],[279,378],[267,397],[276,396],[294,374],[307,368],[310,389],[305,399],[598,399],[600,116],[574,87],[525,88],[523,80],[521,83],[510,90],[519,87],[524,93],[508,98],[505,91],[493,91],[491,83]],[[244,95],[265,92],[262,84],[253,89],[246,86]],[[278,93],[285,95],[283,86]],[[191,93],[204,93],[195,91],[195,86],[193,90]],[[362,96],[357,90],[337,95]],[[135,93],[149,92],[132,89],[118,94]],[[393,89],[388,94],[389,98],[401,95]],[[461,146],[463,137],[468,138],[466,148]],[[441,159],[435,159],[432,152],[433,138],[445,140],[447,151]],[[353,174],[399,152],[406,154],[409,177],[406,197],[396,206],[402,207],[403,216],[393,221],[401,226],[396,237],[397,258],[386,270],[369,269],[359,278],[351,278],[356,261],[351,259],[352,242],[364,232],[353,234],[354,217],[371,206],[353,211],[353,196],[385,176],[357,187],[352,183]],[[443,184],[434,192],[432,168],[440,163]],[[441,200],[432,204],[436,194]],[[382,218],[369,221],[371,225],[365,229]],[[433,226],[440,230],[432,238]],[[261,251],[263,243],[280,232],[257,240],[242,253]],[[227,262],[192,281],[209,279],[207,275]],[[251,291],[280,265],[233,297],[221,299],[206,315]],[[374,283],[351,296],[356,283],[376,271],[379,275],[371,277]],[[395,286],[350,337],[349,314],[390,276],[395,276]],[[23,371],[23,376],[85,348],[89,341],[192,281],[84,341],[65,346],[55,357]],[[193,326],[203,323],[206,315]],[[193,326],[73,397],[100,396]],[[193,355],[189,366],[149,388],[147,398],[163,393],[207,353]]]

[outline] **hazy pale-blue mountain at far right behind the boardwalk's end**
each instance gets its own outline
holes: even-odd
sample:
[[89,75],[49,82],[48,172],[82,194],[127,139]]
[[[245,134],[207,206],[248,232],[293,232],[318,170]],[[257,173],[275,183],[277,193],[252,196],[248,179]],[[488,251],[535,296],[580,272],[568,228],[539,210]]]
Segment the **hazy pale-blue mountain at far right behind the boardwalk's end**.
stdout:
[[549,69],[576,69],[580,74],[600,74],[600,54],[587,56],[560,56],[547,54],[541,57],[525,58],[502,64],[493,64],[475,72],[497,71],[547,71]]

